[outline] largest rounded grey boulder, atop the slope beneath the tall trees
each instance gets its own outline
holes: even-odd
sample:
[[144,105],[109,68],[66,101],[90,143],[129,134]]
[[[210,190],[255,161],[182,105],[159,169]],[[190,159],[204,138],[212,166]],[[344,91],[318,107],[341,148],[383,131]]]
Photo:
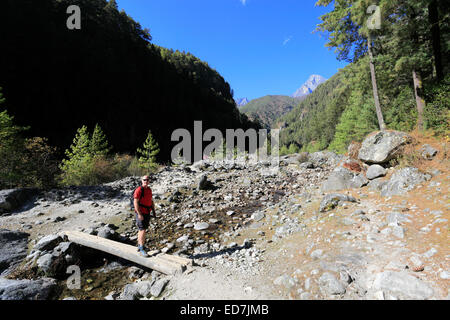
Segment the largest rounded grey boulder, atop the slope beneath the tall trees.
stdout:
[[361,144],[358,158],[366,163],[385,163],[394,158],[401,146],[412,142],[412,137],[401,131],[377,131]]

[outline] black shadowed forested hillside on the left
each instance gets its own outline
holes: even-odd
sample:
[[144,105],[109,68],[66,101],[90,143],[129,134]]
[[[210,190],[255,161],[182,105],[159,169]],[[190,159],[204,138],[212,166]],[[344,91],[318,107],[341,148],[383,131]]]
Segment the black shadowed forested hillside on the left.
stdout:
[[[69,30],[69,5],[81,29]],[[32,136],[67,148],[96,123],[114,151],[134,152],[150,129],[167,159],[176,128],[254,126],[230,86],[190,54],[151,45],[151,35],[114,0],[2,0],[0,86],[8,112]]]

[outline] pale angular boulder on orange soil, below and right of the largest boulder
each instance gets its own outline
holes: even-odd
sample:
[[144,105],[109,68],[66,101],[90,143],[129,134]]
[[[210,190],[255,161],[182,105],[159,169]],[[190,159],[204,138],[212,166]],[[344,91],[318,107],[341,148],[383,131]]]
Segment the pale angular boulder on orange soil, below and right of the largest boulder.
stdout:
[[381,187],[381,196],[390,197],[405,194],[417,184],[431,179],[431,175],[422,173],[414,167],[400,169]]

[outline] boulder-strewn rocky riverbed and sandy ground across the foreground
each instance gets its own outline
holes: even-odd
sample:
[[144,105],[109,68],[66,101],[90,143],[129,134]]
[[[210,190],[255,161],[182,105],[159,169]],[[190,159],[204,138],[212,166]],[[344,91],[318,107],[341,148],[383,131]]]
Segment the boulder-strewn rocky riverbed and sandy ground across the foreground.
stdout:
[[[448,299],[447,142],[377,132],[349,156],[267,165],[201,161],[154,175],[148,246],[194,259],[177,276],[57,235],[135,244],[137,177],[21,203],[2,191],[0,299]],[[80,289],[66,286],[71,264],[81,265]]]

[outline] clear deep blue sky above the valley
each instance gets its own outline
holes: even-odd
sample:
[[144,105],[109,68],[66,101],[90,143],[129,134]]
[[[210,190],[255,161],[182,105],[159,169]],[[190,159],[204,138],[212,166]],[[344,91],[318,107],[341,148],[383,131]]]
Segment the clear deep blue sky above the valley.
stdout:
[[191,52],[216,69],[235,98],[291,95],[309,75],[345,63],[313,33],[331,8],[316,0],[118,0],[152,42]]

